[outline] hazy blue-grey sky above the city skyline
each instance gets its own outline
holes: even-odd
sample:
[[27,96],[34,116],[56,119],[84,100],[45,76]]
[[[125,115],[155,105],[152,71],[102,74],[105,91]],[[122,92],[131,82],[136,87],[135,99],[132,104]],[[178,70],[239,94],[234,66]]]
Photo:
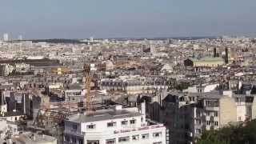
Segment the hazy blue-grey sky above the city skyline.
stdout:
[[256,35],[256,0],[2,0],[0,36]]

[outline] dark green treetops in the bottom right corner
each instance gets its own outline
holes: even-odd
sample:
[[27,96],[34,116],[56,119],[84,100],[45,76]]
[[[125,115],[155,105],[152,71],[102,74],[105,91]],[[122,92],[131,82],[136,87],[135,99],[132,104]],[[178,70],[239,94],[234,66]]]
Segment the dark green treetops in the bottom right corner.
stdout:
[[197,144],[255,144],[256,120],[202,134]]

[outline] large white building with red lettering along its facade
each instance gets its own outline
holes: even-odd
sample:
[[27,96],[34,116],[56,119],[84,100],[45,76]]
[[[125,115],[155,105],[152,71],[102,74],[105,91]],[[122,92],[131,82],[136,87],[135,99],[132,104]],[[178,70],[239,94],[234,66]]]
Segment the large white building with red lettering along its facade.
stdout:
[[166,144],[166,127],[146,120],[144,103],[141,110],[115,106],[90,115],[71,115],[65,120],[64,143]]

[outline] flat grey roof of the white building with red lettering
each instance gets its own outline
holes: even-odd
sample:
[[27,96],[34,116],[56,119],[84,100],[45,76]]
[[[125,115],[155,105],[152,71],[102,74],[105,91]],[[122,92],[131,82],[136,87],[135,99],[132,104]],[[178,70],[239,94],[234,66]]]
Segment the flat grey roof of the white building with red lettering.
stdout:
[[97,122],[104,120],[112,120],[117,118],[130,118],[141,116],[142,114],[130,112],[127,110],[109,110],[106,112],[96,112],[94,114],[74,114],[68,118],[70,122]]

